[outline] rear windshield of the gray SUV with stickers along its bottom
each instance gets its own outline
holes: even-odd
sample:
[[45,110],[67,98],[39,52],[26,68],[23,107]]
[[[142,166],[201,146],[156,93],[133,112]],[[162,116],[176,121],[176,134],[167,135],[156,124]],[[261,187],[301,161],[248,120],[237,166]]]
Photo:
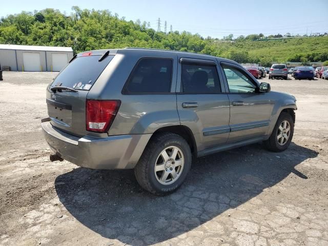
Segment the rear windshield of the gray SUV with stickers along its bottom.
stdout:
[[58,74],[51,86],[61,84],[77,90],[90,90],[114,56],[109,55],[104,60],[98,61],[100,57],[100,55],[76,57]]

